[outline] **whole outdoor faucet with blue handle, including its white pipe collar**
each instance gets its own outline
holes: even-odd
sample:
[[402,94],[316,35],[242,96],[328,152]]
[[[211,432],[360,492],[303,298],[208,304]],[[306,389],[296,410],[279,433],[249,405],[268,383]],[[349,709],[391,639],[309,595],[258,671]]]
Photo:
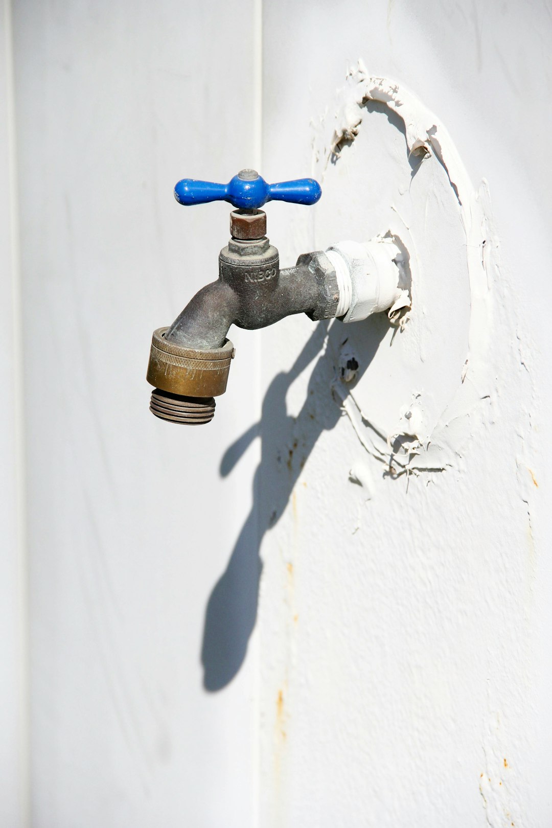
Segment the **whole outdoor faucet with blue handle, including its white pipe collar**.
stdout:
[[226,390],[235,353],[230,325],[255,330],[298,313],[357,321],[410,304],[395,237],[302,253],[295,267],[280,269],[260,208],[276,200],[314,205],[321,195],[312,178],[266,184],[254,170],[242,170],[228,184],[183,179],[175,186],[181,205],[228,201],[237,209],[230,213],[232,238],[218,255],[218,280],[198,291],[170,327],[153,333],[146,378],[155,386],[150,410],[156,416],[188,425],[213,419],[214,397]]

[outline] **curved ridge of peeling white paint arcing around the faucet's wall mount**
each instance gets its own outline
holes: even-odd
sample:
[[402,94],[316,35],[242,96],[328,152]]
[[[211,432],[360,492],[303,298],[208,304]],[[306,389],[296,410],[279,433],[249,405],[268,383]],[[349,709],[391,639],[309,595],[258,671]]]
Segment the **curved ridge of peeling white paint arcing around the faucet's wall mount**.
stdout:
[[[405,124],[406,144],[410,155],[423,156],[424,163],[431,156],[439,160],[446,172],[450,186],[458,200],[459,220],[466,239],[466,263],[471,296],[471,315],[468,332],[468,354],[464,368],[458,375],[458,388],[439,416],[434,428],[423,437],[410,443],[410,459],[406,467],[417,470],[446,469],[456,465],[458,453],[468,441],[472,429],[470,417],[485,407],[494,392],[493,378],[488,370],[488,347],[492,337],[491,286],[497,277],[498,239],[492,220],[491,200],[487,181],[474,187],[463,165],[449,132],[428,108],[403,84],[370,75],[362,60],[356,70],[350,70],[346,84],[338,92],[334,135],[323,153],[324,170],[329,161],[338,162],[344,142],[353,142],[358,136],[368,101],[384,103],[396,112]],[[398,210],[396,210],[398,214]],[[407,228],[406,228],[407,229]],[[415,259],[416,239],[409,250]],[[423,278],[418,270],[418,278]],[[415,295],[414,300],[415,301]],[[407,305],[401,296],[390,311]],[[444,313],[454,313],[454,307],[444,308]],[[404,325],[404,323],[403,323]],[[422,421],[423,411],[417,415]],[[411,426],[410,426],[411,427]],[[410,431],[402,432],[409,435]],[[387,443],[401,436],[401,432],[387,435]],[[392,454],[392,452],[391,452]]]

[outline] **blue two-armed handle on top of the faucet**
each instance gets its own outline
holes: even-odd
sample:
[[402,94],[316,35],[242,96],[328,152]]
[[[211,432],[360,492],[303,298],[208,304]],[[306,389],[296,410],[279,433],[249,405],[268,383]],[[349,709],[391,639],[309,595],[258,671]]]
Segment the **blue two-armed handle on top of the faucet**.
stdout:
[[300,178],[266,184],[255,170],[242,170],[228,184],[195,181],[183,178],[175,186],[175,199],[180,205],[204,205],[209,201],[228,201],[239,209],[259,209],[267,201],[290,201],[297,205],[314,205],[322,195],[318,181]]

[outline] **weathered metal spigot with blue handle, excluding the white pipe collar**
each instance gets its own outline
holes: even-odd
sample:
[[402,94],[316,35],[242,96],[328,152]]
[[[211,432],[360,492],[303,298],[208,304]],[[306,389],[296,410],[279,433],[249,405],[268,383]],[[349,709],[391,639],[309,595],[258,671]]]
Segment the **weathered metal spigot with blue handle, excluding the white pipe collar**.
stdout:
[[[199,291],[169,328],[154,331],[147,381],[156,386],[150,405],[156,416],[188,425],[211,421],[214,397],[226,390],[235,353],[226,338],[229,326],[261,328],[320,304],[312,278],[304,278],[297,291],[290,291],[287,279],[286,289],[279,289],[284,272],[278,251],[266,238],[266,214],[259,209],[271,200],[313,205],[320,195],[313,179],[267,184],[254,170],[242,170],[228,184],[183,179],[175,186],[181,205],[224,200],[238,209],[230,214],[232,238],[218,258],[218,281]],[[326,270],[331,271],[329,262]],[[329,304],[333,296],[337,304],[337,284],[330,290]],[[324,291],[324,310],[330,310],[327,294]]]

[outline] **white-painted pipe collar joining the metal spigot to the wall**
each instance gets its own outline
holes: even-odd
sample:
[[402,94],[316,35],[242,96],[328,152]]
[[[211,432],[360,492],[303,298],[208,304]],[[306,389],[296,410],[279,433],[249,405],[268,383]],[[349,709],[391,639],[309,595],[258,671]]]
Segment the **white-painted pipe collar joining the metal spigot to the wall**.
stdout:
[[389,310],[403,292],[401,273],[394,258],[401,251],[391,238],[374,238],[361,244],[339,242],[326,251],[338,282],[336,316],[358,322],[372,313]]

